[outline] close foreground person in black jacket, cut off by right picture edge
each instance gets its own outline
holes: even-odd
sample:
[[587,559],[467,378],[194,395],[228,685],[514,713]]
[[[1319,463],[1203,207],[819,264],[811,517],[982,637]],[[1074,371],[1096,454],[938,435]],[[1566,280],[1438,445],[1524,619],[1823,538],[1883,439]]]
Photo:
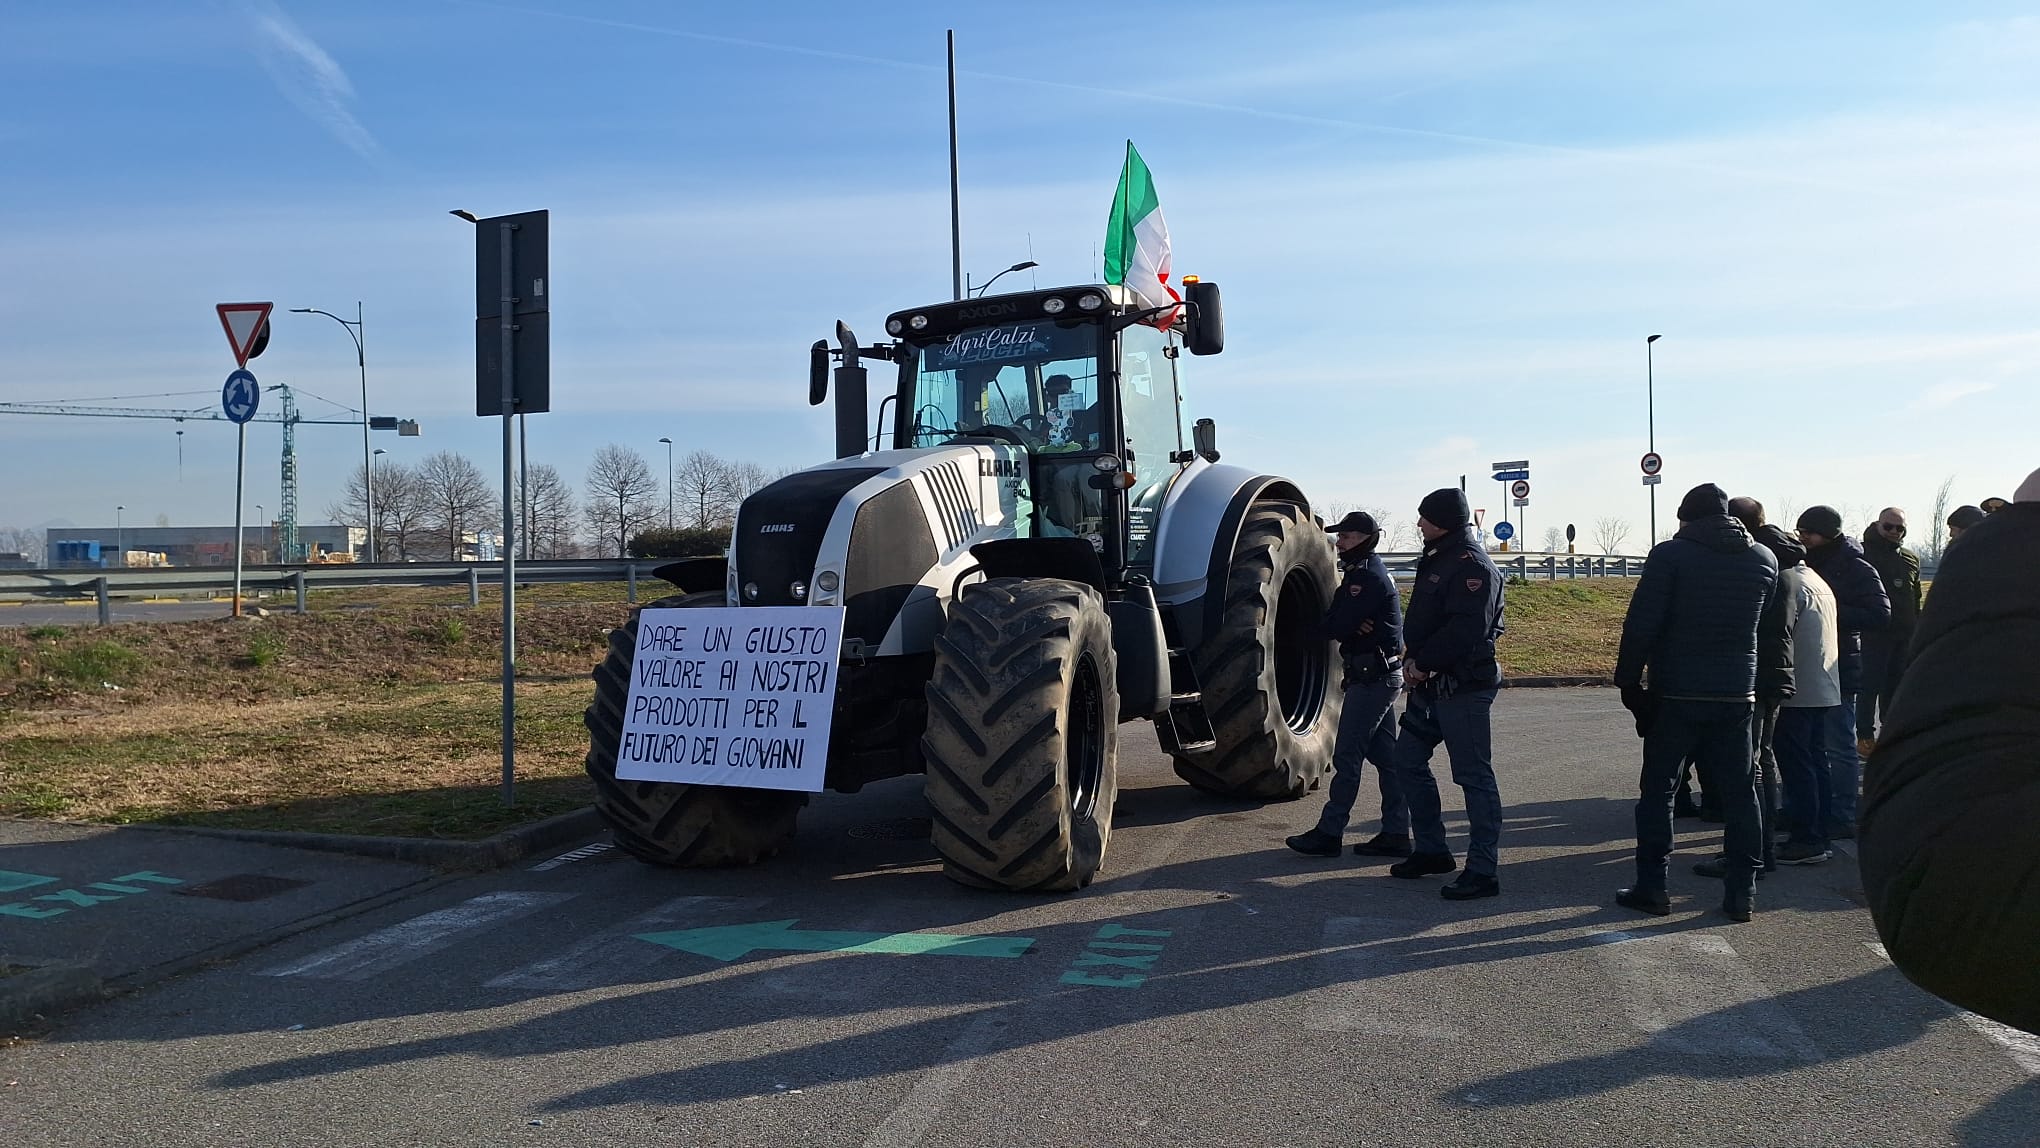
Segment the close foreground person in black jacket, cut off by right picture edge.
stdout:
[[1863,891],[1928,991],[2040,1032],[2040,471],[1942,555],[1863,797]]

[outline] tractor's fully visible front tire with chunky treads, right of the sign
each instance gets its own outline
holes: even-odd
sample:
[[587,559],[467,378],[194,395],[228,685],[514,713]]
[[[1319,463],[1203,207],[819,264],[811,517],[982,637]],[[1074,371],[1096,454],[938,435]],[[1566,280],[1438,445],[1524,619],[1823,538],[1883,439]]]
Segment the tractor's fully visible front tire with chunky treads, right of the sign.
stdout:
[[953,881],[1044,893],[1091,883],[1118,795],[1116,681],[1112,622],[1089,585],[965,587],[934,640],[920,742]]

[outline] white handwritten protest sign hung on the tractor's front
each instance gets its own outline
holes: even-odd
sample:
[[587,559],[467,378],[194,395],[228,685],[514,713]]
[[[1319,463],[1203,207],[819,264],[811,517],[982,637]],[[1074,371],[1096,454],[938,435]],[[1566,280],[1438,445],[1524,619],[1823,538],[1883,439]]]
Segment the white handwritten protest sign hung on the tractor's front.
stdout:
[[616,777],[820,793],[840,648],[840,606],[645,610]]

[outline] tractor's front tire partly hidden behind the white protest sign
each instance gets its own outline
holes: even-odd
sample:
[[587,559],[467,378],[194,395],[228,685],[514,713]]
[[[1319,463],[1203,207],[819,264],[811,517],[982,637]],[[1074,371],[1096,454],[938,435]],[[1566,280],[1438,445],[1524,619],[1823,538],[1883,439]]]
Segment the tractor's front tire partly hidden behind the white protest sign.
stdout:
[[[722,606],[722,595],[681,593],[661,597],[647,610],[675,606]],[[636,612],[610,630],[610,653],[596,667],[596,701],[583,716],[596,810],[610,824],[616,846],[639,860],[683,867],[751,865],[779,852],[794,838],[794,818],[808,803],[806,793],[616,777],[636,632]]]

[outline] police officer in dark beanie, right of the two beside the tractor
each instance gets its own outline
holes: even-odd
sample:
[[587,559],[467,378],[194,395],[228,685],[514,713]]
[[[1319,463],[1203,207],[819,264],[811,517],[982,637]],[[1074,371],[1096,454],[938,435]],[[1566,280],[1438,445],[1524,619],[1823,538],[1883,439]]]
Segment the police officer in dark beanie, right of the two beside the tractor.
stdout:
[[1430,754],[1444,742],[1452,781],[1467,793],[1467,869],[1440,889],[1448,901],[1493,897],[1501,844],[1501,789],[1495,785],[1493,738],[1487,718],[1501,687],[1495,638],[1501,636],[1501,573],[1471,526],[1467,495],[1434,489],[1418,504],[1424,557],[1404,618],[1404,708],[1395,738],[1395,769],[1410,820],[1414,852],[1389,867],[1393,877],[1426,877],[1459,869],[1444,844],[1444,814]]

